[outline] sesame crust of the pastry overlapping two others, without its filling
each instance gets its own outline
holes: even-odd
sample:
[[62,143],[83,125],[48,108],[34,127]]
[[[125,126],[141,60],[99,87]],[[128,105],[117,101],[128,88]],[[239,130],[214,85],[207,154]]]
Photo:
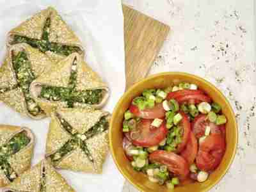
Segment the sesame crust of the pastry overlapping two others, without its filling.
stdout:
[[[102,79],[93,70],[86,65],[81,56],[72,53],[70,56],[53,65],[49,71],[42,74],[31,83],[30,92],[36,102],[44,109],[45,113],[50,116],[51,112],[58,108],[67,108],[67,104],[63,101],[50,101],[40,98],[42,86],[67,87],[70,79],[72,62],[77,60],[77,80],[76,90],[103,90],[103,97],[99,104],[92,104],[93,108],[102,108],[106,104],[109,97],[109,88]],[[89,104],[75,103],[74,108],[84,108]]]

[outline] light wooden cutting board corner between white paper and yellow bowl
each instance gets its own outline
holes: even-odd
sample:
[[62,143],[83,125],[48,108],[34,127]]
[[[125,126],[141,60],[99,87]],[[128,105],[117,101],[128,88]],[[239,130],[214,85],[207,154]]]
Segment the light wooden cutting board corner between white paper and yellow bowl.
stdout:
[[126,88],[147,76],[170,28],[123,5]]

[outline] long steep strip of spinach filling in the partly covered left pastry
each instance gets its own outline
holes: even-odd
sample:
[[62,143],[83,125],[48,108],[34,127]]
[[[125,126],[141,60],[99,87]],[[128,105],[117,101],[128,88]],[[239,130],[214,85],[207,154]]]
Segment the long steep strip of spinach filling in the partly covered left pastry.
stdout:
[[13,54],[12,63],[18,86],[24,93],[29,113],[34,116],[44,113],[29,93],[29,86],[36,77],[31,70],[31,63],[26,52],[20,51],[17,54]]

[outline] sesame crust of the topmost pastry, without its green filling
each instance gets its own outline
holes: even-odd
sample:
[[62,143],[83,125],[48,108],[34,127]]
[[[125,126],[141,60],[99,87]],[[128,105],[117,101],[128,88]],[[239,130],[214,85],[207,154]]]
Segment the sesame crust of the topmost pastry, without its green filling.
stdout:
[[[51,6],[39,13],[36,13],[33,17],[22,22],[16,28],[13,28],[8,33],[7,46],[10,46],[13,41],[14,35],[25,36],[35,40],[42,40],[45,21],[47,18],[51,19],[51,26],[49,28],[49,41],[61,45],[76,46],[81,49],[81,55],[84,55],[84,49],[79,38],[70,29],[65,21],[61,19],[58,12]],[[51,51],[46,51],[52,61],[60,61],[61,57],[58,54],[52,54]]]

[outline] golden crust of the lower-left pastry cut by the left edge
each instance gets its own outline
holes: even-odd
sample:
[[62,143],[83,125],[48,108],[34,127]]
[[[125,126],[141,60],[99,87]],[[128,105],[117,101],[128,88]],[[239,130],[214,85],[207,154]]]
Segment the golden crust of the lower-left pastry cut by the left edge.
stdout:
[[[7,159],[8,163],[18,176],[28,170],[31,166],[33,148],[35,145],[34,134],[30,131],[30,129],[26,127],[0,125],[0,147],[8,143],[8,141],[11,140],[13,136],[19,134],[20,132],[26,132],[26,136],[28,136],[30,141],[26,147],[19,150],[19,152],[12,154]],[[7,184],[10,184],[10,180],[8,177],[6,177],[4,172],[0,170],[0,188],[6,186]]]

